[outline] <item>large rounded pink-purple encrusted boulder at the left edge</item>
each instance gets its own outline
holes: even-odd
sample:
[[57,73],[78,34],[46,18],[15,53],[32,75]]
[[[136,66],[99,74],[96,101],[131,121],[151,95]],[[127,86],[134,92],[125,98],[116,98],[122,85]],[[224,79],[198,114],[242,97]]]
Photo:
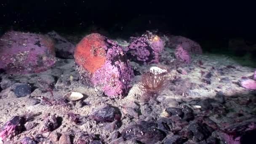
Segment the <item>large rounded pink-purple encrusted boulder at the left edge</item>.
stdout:
[[54,43],[50,37],[9,31],[0,38],[0,69],[7,73],[37,73],[55,63]]

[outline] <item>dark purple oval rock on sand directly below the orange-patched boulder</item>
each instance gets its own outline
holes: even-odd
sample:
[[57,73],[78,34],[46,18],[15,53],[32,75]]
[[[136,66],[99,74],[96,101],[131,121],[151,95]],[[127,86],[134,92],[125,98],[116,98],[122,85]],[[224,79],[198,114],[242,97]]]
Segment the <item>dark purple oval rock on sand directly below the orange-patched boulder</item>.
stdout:
[[118,117],[120,117],[120,112],[118,112],[114,107],[111,107],[109,105],[100,107],[99,109],[95,109],[90,117],[93,120],[99,121],[99,122],[113,122]]

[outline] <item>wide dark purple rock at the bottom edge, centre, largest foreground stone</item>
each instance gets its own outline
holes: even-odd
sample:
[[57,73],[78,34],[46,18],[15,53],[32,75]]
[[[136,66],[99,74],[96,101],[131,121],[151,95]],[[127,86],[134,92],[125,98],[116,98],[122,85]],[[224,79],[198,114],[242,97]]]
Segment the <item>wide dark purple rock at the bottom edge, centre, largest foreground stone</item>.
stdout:
[[124,139],[136,140],[145,144],[155,144],[162,141],[166,136],[163,131],[157,129],[156,123],[146,121],[128,126],[128,128],[123,129],[121,134]]

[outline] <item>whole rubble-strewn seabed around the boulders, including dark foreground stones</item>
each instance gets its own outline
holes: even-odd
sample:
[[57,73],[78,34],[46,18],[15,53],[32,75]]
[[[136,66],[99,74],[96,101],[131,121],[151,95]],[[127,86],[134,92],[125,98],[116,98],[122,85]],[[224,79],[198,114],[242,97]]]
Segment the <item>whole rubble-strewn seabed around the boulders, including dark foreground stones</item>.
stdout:
[[[141,98],[141,75],[133,78],[128,96],[110,99],[80,80],[74,59],[58,59],[54,67],[37,74],[1,74],[6,87],[0,92],[0,125],[13,117],[11,123],[22,125],[10,144],[252,142],[256,91],[240,87],[238,80],[250,77],[255,69],[224,55],[193,55],[191,64],[174,64],[174,59],[174,50],[165,48],[160,64],[131,62],[141,73],[157,66],[172,75],[168,88],[149,101]],[[40,78],[53,89],[43,87]],[[28,83],[32,93],[17,97],[10,88],[14,83]],[[71,91],[83,93],[84,98],[63,100]],[[24,116],[26,122],[16,116]]]

